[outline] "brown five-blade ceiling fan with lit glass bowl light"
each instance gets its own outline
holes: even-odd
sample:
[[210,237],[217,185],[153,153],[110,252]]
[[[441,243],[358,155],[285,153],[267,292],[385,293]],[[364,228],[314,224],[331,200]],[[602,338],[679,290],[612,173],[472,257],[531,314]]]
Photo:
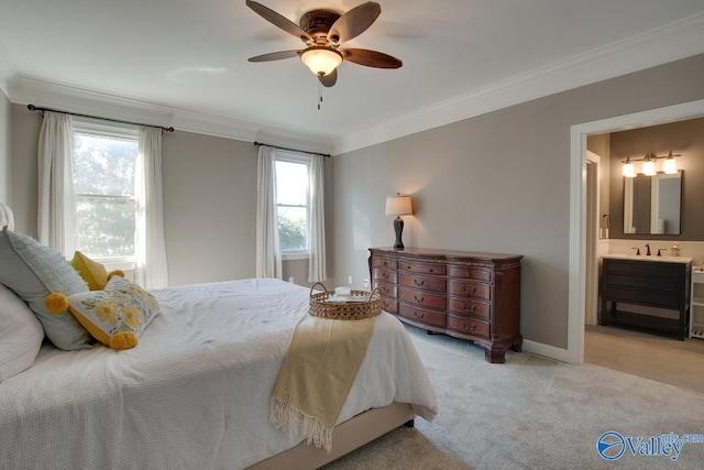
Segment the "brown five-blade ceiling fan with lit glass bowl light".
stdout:
[[359,36],[376,21],[382,12],[382,7],[376,2],[367,1],[342,15],[330,10],[311,10],[300,17],[300,25],[255,1],[246,0],[246,6],[266,21],[306,43],[306,48],[257,55],[250,57],[250,62],[300,57],[326,87],[338,81],[338,66],[343,61],[376,68],[399,68],[403,65],[396,57],[381,52],[339,48],[342,43]]

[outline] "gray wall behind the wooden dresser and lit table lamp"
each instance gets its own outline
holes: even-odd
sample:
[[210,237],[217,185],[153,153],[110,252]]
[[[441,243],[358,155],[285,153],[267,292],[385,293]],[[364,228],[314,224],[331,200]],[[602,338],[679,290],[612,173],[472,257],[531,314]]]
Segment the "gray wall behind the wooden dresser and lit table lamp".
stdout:
[[568,343],[570,128],[704,98],[704,55],[336,156],[336,284],[391,245],[384,200],[413,196],[408,247],[517,253],[521,334]]

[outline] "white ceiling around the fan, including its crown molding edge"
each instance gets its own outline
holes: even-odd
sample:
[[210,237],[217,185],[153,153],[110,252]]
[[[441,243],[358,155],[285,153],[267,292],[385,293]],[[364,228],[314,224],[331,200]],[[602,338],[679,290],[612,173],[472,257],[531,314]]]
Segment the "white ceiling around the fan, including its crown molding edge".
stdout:
[[[261,3],[298,23],[362,1]],[[248,62],[302,43],[244,0],[0,0],[0,86],[13,102],[85,98],[101,116],[134,108],[177,129],[339,153],[704,52],[703,0],[378,2],[345,45],[404,66],[342,64],[320,110],[298,58]]]

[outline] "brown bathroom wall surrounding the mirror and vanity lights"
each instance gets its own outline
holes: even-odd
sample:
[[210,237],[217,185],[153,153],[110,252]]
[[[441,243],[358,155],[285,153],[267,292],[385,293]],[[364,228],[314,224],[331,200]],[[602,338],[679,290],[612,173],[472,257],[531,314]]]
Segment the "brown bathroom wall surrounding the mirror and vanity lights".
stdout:
[[[704,87],[704,85],[702,86]],[[682,170],[682,207],[681,231],[679,236],[666,236],[667,240],[702,241],[704,240],[704,118],[691,119],[669,124],[653,125],[610,134],[610,214],[613,215],[612,238],[658,240],[663,236],[624,233],[624,177],[622,161],[642,159],[646,153],[667,155],[680,153],[676,157],[678,170]],[[662,161],[658,161],[660,171]],[[640,171],[640,162],[636,171]],[[650,207],[646,208],[649,220]]]

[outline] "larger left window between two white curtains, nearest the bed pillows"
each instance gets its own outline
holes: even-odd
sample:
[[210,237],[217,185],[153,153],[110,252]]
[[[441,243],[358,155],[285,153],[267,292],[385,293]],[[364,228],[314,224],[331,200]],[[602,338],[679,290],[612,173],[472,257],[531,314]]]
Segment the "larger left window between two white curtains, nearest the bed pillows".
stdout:
[[78,250],[100,261],[134,261],[138,132],[74,121]]

